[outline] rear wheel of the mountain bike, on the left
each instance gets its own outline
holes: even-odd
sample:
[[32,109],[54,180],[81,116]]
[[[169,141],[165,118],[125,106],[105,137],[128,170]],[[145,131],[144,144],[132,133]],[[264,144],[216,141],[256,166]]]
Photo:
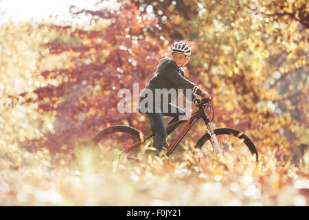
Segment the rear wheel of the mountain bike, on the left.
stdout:
[[[109,160],[119,155],[125,155],[127,159],[137,159],[140,142],[139,131],[130,126],[110,126],[100,131],[93,138],[90,146],[93,150],[94,159]],[[125,149],[137,144],[130,151]]]

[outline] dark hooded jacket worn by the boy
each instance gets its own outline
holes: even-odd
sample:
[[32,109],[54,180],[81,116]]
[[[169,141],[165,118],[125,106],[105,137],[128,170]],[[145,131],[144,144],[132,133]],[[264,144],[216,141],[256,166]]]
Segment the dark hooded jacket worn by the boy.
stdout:
[[[185,97],[191,101],[193,101],[196,97],[195,94],[201,95],[202,90],[196,87],[196,85],[185,78],[185,72],[182,68],[179,68],[174,61],[170,58],[163,58],[161,59],[158,67],[157,67],[158,74],[154,76],[148,85],[146,85],[145,89],[151,89],[153,96],[153,102],[156,103],[155,99],[155,89],[176,89],[176,97],[179,95],[178,89],[182,89],[183,94]],[[192,89],[191,96],[190,93],[186,94],[186,89]],[[194,94],[195,93],[195,94]],[[144,100],[145,93],[141,94],[141,100]],[[188,97],[189,96],[189,97]],[[172,98],[168,96],[168,102],[163,103],[163,95],[161,95],[161,107],[163,104],[168,104],[172,102]]]

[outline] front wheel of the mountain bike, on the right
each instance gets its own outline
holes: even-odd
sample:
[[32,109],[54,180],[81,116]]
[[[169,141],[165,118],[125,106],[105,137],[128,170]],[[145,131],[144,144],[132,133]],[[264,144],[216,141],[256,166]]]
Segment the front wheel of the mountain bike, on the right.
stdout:
[[[248,160],[251,155],[255,155],[258,162],[258,151],[251,139],[242,133],[231,128],[214,129],[219,146],[223,155],[233,159],[233,162],[243,162]],[[205,133],[195,145],[196,148],[206,148],[213,151],[209,133]]]

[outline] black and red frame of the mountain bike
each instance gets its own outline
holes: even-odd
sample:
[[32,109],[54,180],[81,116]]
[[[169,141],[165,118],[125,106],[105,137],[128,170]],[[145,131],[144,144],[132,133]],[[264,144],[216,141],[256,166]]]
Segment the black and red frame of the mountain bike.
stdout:
[[[207,116],[207,114],[205,113],[204,104],[198,104],[199,106],[199,110],[195,111],[194,113],[192,113],[192,115],[188,115],[185,118],[182,118],[181,120],[178,120],[176,122],[173,122],[172,124],[169,124],[168,126],[166,126],[166,133],[167,135],[170,135],[170,133],[172,133],[172,130],[176,129],[176,127],[178,127],[180,124],[183,124],[184,122],[187,122],[187,124],[185,125],[185,127],[183,128],[183,130],[181,131],[181,133],[179,133],[179,135],[176,137],[176,139],[174,140],[174,142],[172,142],[172,144],[170,144],[170,147],[168,148],[168,151],[166,152],[167,155],[170,155],[174,149],[176,148],[176,146],[179,145],[179,143],[181,142],[181,140],[183,140],[183,137],[185,137],[186,133],[191,129],[191,127],[195,124],[195,122],[197,122],[198,120],[200,120],[200,118],[203,118],[205,125],[207,126],[207,131],[210,132],[211,134],[214,133],[214,130],[212,129],[212,127],[210,126],[209,122],[209,118]],[[150,135],[147,135],[146,137],[144,137],[144,141],[149,140],[151,137],[153,137],[154,134],[150,133]],[[141,141],[128,146],[124,152],[128,152],[130,150],[132,150],[133,148],[139,146],[139,144],[141,144]]]

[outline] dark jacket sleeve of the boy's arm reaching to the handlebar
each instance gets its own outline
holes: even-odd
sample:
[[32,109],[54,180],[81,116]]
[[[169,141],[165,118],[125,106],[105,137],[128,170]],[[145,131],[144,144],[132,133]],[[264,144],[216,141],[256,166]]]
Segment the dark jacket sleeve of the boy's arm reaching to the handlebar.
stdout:
[[180,72],[176,70],[176,67],[173,63],[168,63],[163,69],[161,69],[161,74],[162,76],[170,80],[170,82],[179,85],[179,87],[183,89],[192,89],[192,94],[201,96],[202,90],[198,88],[194,83],[181,76]]

